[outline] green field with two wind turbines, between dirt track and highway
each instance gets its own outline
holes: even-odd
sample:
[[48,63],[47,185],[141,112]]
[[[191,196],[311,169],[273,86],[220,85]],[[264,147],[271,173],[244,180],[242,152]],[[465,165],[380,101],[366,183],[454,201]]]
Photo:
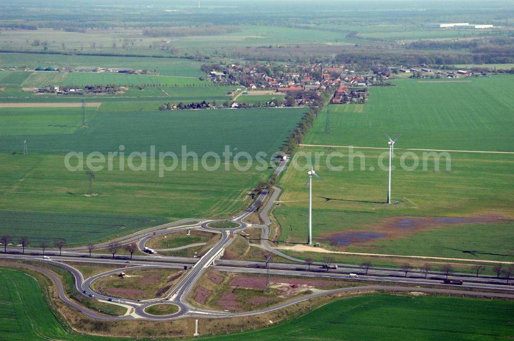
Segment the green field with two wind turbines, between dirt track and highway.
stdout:
[[[313,147],[300,151],[327,153]],[[334,158],[333,166],[344,166],[342,171],[330,172],[326,158],[320,158],[317,174],[324,181],[313,183],[315,241],[355,252],[514,259],[510,243],[514,237],[511,156],[452,153],[450,172],[445,171],[444,162],[441,170],[434,172],[430,161],[427,171],[422,166],[406,171],[400,166],[398,151],[392,200],[399,203],[386,205],[388,180],[387,172],[379,169],[381,152],[359,150],[365,157],[365,169],[361,170],[357,157],[354,171],[350,171],[348,151],[341,151],[345,156]],[[422,158],[421,152],[417,155]],[[281,240],[304,242],[307,238],[306,179],[306,171],[289,167],[279,181],[285,191],[274,214],[281,224]],[[437,220],[440,217],[467,220]],[[405,223],[402,219],[414,220]]]

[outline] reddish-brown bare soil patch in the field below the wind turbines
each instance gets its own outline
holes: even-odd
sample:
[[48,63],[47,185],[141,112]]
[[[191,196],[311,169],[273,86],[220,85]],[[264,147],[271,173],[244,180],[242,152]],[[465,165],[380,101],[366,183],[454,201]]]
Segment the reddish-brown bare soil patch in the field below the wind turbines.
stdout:
[[472,217],[393,217],[383,224],[373,226],[372,230],[352,232],[336,232],[328,235],[325,240],[332,245],[345,247],[350,244],[366,243],[379,238],[401,238],[413,235],[418,230],[437,229],[446,226],[502,223],[503,217],[482,215]]

